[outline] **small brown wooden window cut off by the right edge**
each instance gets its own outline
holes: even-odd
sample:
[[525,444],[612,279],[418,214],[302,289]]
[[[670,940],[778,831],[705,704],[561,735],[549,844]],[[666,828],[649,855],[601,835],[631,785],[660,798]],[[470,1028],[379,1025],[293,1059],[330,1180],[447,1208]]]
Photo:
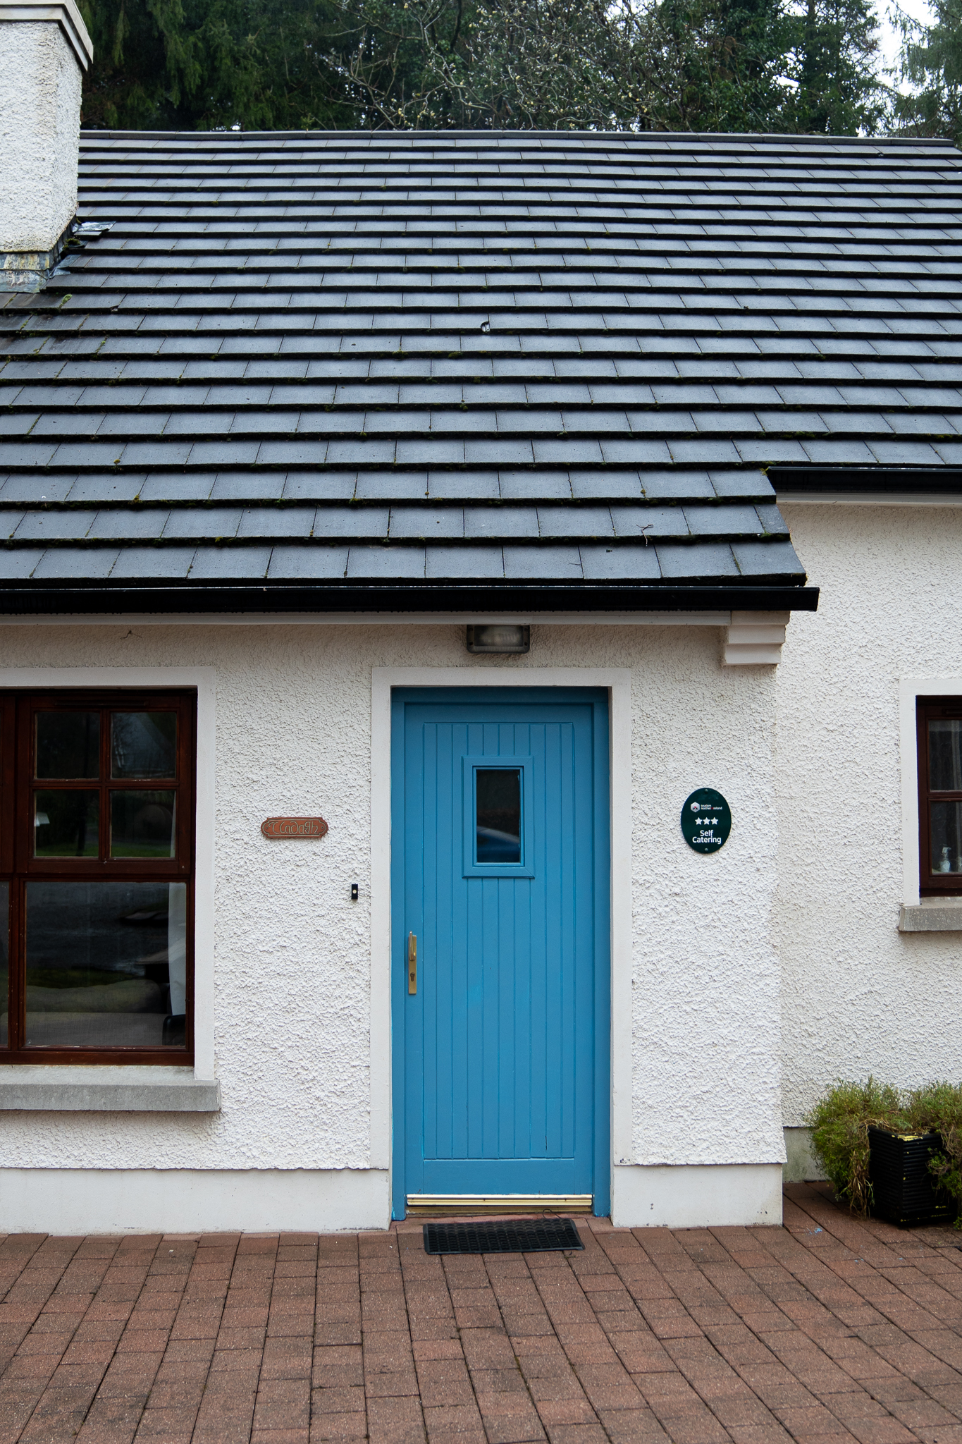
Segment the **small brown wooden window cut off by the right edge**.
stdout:
[[916,700],[919,891],[962,892],[962,697]]

